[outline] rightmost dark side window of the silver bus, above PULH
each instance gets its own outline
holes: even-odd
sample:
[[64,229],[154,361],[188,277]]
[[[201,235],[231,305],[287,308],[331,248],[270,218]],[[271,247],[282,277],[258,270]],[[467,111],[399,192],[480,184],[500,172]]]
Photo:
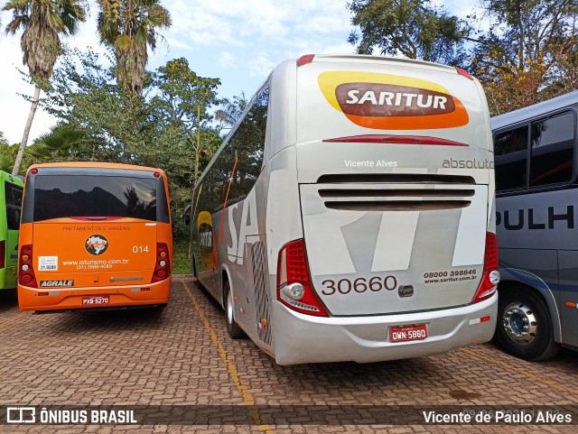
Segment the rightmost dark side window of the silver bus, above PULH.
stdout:
[[532,123],[530,187],[572,178],[574,122],[568,112]]

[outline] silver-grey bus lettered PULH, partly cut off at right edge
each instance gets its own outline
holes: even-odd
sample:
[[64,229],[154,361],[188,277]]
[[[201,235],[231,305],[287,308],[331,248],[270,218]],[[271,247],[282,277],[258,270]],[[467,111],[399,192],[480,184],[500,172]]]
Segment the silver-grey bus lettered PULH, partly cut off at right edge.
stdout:
[[578,91],[491,120],[496,162],[499,318],[514,356],[578,349]]

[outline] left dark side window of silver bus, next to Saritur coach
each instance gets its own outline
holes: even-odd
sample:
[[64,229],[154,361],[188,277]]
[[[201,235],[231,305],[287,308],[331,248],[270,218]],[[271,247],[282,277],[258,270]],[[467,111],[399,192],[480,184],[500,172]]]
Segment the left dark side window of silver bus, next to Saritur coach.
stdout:
[[527,178],[527,125],[496,134],[496,189],[521,189]]

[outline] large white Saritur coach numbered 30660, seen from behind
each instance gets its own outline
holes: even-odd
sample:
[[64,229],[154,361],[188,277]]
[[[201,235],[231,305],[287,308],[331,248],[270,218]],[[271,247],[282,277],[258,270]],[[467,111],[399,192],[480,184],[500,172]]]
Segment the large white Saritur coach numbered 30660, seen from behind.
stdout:
[[499,280],[489,112],[462,69],[281,63],[191,201],[192,269],[280,365],[488,341]]

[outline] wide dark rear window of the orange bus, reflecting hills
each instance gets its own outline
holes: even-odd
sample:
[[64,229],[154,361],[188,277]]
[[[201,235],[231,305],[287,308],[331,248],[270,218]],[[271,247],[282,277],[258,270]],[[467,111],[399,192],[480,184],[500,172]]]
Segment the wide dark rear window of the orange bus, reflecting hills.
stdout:
[[42,175],[34,181],[34,221],[61,217],[133,217],[156,221],[154,179]]

